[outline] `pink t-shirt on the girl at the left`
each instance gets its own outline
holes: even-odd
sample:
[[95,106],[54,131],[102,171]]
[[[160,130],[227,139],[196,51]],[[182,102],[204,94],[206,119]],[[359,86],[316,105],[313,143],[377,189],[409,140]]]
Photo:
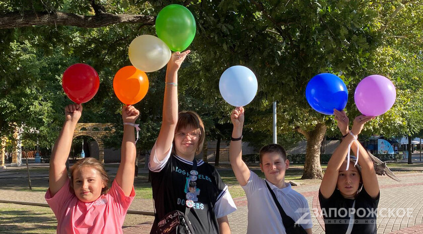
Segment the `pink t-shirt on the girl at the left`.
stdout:
[[50,189],[45,200],[57,218],[57,233],[123,233],[122,225],[126,211],[135,197],[135,191],[129,197],[113,181],[107,194],[89,203],[82,202],[70,190],[70,180],[51,197]]

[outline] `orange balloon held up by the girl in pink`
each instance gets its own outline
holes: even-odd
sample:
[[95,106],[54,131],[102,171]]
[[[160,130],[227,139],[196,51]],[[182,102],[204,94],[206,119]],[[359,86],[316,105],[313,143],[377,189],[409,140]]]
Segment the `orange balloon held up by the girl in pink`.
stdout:
[[113,90],[122,103],[133,105],[146,96],[149,90],[149,79],[146,72],[134,66],[124,66],[115,74]]

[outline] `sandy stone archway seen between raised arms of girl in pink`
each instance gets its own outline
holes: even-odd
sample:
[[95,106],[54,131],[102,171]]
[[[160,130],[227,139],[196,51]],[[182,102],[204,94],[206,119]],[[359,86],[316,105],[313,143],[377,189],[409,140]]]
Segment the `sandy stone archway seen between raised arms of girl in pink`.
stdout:
[[104,144],[101,138],[112,131],[112,125],[109,123],[78,123],[72,140],[78,136],[92,137],[98,144],[98,160],[104,163]]

